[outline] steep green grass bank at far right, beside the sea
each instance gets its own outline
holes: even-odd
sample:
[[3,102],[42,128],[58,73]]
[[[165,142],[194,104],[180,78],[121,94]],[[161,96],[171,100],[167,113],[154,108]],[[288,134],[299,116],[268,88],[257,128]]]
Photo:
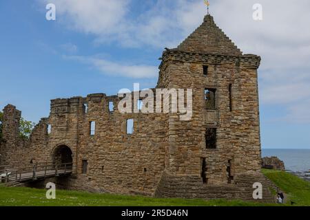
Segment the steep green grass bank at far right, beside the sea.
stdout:
[[295,206],[310,206],[310,182],[296,175],[278,170],[262,169],[268,179],[289,195]]

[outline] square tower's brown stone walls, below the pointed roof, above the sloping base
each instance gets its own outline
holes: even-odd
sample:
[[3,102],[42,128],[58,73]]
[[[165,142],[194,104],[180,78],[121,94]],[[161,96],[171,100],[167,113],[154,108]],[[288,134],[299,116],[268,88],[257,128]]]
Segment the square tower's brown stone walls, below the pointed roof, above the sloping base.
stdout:
[[[161,86],[193,89],[194,96],[192,120],[180,122],[178,115],[169,114],[169,172],[199,175],[201,158],[206,158],[210,184],[227,183],[229,161],[232,175],[260,172],[259,61],[258,56],[205,56],[178,50],[163,54],[161,76],[169,75],[169,80],[167,85],[161,81]],[[203,65],[208,66],[207,76]],[[215,110],[206,108],[206,88],[216,89]],[[205,147],[207,128],[217,129],[216,149]]]

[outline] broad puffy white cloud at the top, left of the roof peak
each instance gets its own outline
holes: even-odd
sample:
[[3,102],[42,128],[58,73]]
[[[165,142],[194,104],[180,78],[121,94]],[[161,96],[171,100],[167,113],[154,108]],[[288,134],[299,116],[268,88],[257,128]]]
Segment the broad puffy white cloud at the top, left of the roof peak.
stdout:
[[[116,42],[123,47],[174,47],[202,21],[201,1],[158,0],[138,16],[131,11],[138,1],[37,0],[56,5],[57,21],[66,27],[92,34],[96,43]],[[132,8],[131,8],[132,7]],[[199,16],[195,9],[199,10]],[[192,15],[195,14],[195,19]],[[181,34],[180,34],[181,33]]]

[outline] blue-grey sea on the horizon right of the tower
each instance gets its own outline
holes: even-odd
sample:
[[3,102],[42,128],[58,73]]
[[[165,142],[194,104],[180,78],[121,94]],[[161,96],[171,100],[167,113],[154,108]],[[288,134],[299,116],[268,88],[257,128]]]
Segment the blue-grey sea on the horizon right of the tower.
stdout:
[[310,149],[262,148],[262,157],[276,156],[285,163],[285,169],[310,181]]

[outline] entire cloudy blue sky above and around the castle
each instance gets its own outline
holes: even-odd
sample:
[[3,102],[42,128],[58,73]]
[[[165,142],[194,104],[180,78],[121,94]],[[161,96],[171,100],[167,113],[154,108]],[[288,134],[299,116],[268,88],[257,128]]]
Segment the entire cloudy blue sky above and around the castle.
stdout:
[[[56,5],[56,21],[45,5]],[[263,148],[310,148],[310,3],[210,1],[218,26],[259,69]],[[263,21],[252,19],[262,4]],[[308,7],[307,7],[308,6]],[[200,0],[0,0],[0,109],[38,122],[50,99],[155,87],[164,47],[203,21]]]

